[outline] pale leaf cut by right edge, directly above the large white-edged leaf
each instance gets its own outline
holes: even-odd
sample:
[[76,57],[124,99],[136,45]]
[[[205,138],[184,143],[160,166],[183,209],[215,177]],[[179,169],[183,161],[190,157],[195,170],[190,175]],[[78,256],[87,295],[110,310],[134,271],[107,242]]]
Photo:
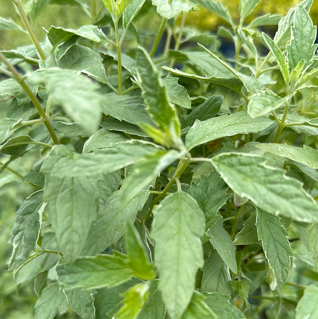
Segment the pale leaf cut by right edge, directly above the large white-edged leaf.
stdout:
[[318,168],[318,151],[303,145],[303,148],[287,145],[287,144],[258,144],[255,147],[260,148],[265,152],[269,152],[278,156],[283,156],[292,159],[296,162],[307,165],[308,167]]

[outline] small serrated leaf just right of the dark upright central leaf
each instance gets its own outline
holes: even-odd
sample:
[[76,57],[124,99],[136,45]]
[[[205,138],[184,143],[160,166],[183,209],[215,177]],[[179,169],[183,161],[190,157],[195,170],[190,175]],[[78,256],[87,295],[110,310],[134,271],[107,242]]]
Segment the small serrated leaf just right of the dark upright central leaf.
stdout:
[[162,79],[162,83],[166,88],[168,100],[171,103],[177,104],[183,108],[191,108],[191,100],[187,90],[182,85],[178,84],[178,78],[166,77]]

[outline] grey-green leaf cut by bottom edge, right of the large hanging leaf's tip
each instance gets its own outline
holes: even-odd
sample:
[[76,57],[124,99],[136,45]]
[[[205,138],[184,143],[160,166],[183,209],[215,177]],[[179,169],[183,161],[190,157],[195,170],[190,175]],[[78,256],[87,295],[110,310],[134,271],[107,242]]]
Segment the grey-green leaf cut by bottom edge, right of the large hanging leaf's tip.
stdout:
[[222,293],[201,293],[204,296],[203,301],[213,310],[219,319],[245,319],[242,311],[237,309],[229,301],[230,297]]

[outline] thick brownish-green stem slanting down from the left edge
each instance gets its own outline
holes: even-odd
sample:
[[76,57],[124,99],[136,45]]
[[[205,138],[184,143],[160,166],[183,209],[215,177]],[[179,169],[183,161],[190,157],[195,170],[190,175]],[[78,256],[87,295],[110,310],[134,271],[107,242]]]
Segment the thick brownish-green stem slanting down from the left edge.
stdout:
[[43,119],[43,123],[45,124],[48,132],[50,133],[52,140],[54,144],[60,144],[60,141],[58,137],[56,136],[56,133],[53,129],[53,126],[49,120],[49,118],[46,116],[45,111],[43,110],[39,100],[34,95],[30,87],[25,83],[24,79],[18,73],[18,71],[14,68],[14,66],[5,58],[5,56],[0,52],[0,60],[6,65],[6,67],[11,71],[13,78],[22,86],[25,93],[29,96],[30,100],[32,101],[34,107],[37,109],[40,117]]

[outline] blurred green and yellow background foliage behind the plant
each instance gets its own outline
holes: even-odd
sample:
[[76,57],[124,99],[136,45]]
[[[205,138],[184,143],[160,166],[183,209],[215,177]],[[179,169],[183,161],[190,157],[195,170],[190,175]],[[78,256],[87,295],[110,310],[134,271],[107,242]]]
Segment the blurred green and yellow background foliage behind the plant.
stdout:
[[[25,0],[30,1],[30,0]],[[33,21],[33,28],[40,40],[44,39],[45,31],[51,25],[62,26],[64,28],[79,28],[82,25],[91,24],[91,18],[88,12],[85,12],[85,7],[89,9],[90,0],[82,1],[83,7],[60,5],[67,4],[70,0],[52,0],[55,4],[48,5],[41,15]],[[233,19],[238,17],[238,2],[239,0],[220,0],[224,6],[228,7]],[[279,13],[285,15],[291,6],[297,4],[299,0],[262,0],[256,7],[255,11],[249,17],[253,18],[266,13]],[[154,10],[152,10],[154,11]],[[318,1],[314,1],[310,15],[314,24],[318,24]],[[18,25],[22,26],[22,22],[15,10],[14,5],[10,0],[0,0],[0,16],[5,19],[12,19]],[[152,19],[153,32],[158,29],[160,19],[153,19],[153,13],[150,12],[144,17],[144,21],[140,25],[145,24],[149,27],[149,19]],[[148,20],[148,21],[147,21]],[[249,22],[247,20],[247,22]],[[200,11],[189,12],[186,18],[186,25],[196,27],[201,30],[216,31],[219,24],[224,24],[224,21],[217,18],[213,14],[204,9]],[[275,30],[273,30],[275,32]],[[31,44],[31,39],[28,34],[18,31],[0,32],[0,50],[10,50],[19,46]],[[6,110],[0,110],[0,118],[6,114]],[[6,155],[0,154],[0,167],[6,162]],[[31,319],[34,318],[34,304],[37,296],[34,292],[34,287],[31,282],[19,284],[13,279],[13,274],[7,271],[7,262],[10,259],[12,247],[10,243],[10,234],[14,222],[14,216],[19,206],[35,189],[24,181],[23,176],[31,171],[31,163],[36,163],[41,157],[38,152],[29,152],[23,158],[18,158],[10,163],[10,169],[0,169],[0,319]],[[295,234],[297,236],[297,234]],[[293,245],[298,245],[299,255],[304,252],[303,258],[306,260],[306,252],[300,242],[295,242]],[[303,284],[309,284],[313,280],[317,280],[317,273],[308,271],[307,264],[302,260],[295,260],[297,263],[297,272],[293,272],[292,276],[296,276],[297,281]],[[260,288],[259,288],[260,289]],[[298,290],[295,290],[295,293]],[[262,309],[259,305],[253,305],[253,300],[250,300],[251,307],[249,312],[261,313]],[[270,300],[267,302],[271,303]],[[263,303],[264,309],[268,307],[266,301]],[[72,319],[79,318],[73,311],[64,309],[64,314],[57,315],[56,318]],[[272,314],[270,314],[272,311]],[[62,309],[63,312],[63,309]],[[267,313],[268,312],[268,313]],[[266,310],[266,315],[269,318],[274,318],[277,309],[270,308]]]

